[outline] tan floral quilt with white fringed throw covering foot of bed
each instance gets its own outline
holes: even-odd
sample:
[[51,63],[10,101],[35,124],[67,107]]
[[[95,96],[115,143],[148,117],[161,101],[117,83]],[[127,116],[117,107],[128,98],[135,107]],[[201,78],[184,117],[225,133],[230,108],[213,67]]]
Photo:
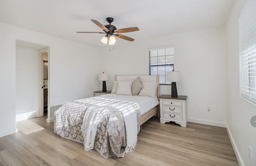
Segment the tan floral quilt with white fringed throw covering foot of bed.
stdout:
[[94,148],[104,158],[132,152],[139,124],[137,103],[100,97],[68,102],[54,112],[55,134],[84,143],[85,150]]

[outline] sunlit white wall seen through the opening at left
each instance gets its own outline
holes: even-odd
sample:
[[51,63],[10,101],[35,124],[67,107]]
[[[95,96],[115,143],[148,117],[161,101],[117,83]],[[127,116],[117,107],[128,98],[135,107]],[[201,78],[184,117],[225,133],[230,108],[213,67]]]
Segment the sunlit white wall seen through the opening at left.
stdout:
[[37,117],[37,50],[16,47],[16,121]]

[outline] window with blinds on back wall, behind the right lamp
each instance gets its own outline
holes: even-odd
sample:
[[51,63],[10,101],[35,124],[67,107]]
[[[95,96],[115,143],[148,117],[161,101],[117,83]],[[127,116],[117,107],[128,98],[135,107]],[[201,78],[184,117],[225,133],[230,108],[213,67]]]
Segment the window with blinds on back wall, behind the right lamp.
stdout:
[[159,74],[159,84],[166,82],[166,72],[174,70],[174,46],[149,48],[149,75]]

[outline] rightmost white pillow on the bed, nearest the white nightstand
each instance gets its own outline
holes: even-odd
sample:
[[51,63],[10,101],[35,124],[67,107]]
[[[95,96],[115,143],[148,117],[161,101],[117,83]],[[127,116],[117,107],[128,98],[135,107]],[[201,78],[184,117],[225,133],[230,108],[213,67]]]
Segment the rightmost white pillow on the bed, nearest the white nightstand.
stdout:
[[142,82],[142,85],[143,88],[138,96],[150,96],[152,98],[156,97],[158,82]]

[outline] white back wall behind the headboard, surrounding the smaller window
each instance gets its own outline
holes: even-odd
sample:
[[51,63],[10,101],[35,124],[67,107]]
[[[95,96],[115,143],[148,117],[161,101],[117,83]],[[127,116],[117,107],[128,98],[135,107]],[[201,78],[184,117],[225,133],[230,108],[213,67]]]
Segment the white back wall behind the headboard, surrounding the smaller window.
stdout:
[[[114,75],[148,75],[148,48],[174,45],[174,69],[181,71],[179,95],[187,95],[191,122],[226,127],[226,31],[225,27],[202,29],[134,42],[117,39],[114,50],[102,49],[101,72]],[[170,86],[160,86],[160,94],[171,94]],[[211,107],[211,112],[206,108]]]

